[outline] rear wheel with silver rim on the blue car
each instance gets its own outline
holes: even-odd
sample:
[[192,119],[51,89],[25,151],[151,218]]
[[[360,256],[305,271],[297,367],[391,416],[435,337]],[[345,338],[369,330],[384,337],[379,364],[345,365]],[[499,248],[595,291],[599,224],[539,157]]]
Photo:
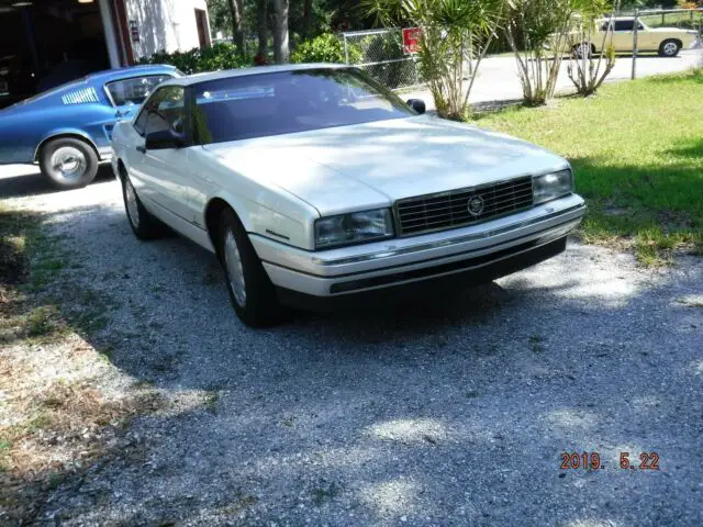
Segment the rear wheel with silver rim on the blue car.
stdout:
[[60,190],[86,187],[98,173],[98,154],[76,137],[59,137],[46,143],[38,155],[42,175]]

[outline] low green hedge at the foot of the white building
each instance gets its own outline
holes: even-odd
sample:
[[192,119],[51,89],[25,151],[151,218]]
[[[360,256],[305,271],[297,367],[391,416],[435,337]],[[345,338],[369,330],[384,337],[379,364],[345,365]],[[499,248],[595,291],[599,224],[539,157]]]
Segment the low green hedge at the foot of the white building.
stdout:
[[150,57],[143,57],[140,64],[170,64],[188,75],[253,66],[249,58],[237,54],[234,44],[227,43],[213,44],[203,49],[193,47],[188,52],[157,52]]

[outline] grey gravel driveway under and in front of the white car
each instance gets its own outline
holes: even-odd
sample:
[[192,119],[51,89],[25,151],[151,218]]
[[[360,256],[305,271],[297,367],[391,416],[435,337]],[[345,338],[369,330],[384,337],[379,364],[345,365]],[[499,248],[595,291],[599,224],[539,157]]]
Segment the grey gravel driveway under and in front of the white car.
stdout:
[[[254,330],[214,257],[134,238],[108,175],[42,193],[4,173],[0,195],[49,213],[82,264],[62,280],[112,306],[83,337],[209,401],[135,419],[41,525],[703,525],[702,259],[641,270],[572,243],[451,298]],[[565,451],[605,468],[561,470]]]

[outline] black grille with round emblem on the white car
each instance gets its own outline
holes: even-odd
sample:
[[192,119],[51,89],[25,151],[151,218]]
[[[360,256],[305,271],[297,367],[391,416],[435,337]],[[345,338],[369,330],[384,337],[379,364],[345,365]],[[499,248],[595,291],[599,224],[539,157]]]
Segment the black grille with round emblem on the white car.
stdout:
[[532,177],[526,177],[400,200],[395,202],[399,234],[455,228],[524,211],[533,206],[532,192]]

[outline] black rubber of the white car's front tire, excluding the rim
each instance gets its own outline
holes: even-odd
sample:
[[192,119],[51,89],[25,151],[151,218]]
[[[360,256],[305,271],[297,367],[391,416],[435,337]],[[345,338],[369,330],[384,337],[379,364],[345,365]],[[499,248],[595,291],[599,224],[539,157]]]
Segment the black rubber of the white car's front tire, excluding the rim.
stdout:
[[[242,260],[246,290],[244,306],[239,305],[234,295],[225,262],[224,240],[227,232],[232,232],[234,235]],[[224,270],[230,301],[239,319],[252,327],[267,327],[279,323],[282,310],[276,296],[276,289],[268,278],[252,242],[249,242],[244,226],[230,209],[225,209],[220,216],[217,256]]]

